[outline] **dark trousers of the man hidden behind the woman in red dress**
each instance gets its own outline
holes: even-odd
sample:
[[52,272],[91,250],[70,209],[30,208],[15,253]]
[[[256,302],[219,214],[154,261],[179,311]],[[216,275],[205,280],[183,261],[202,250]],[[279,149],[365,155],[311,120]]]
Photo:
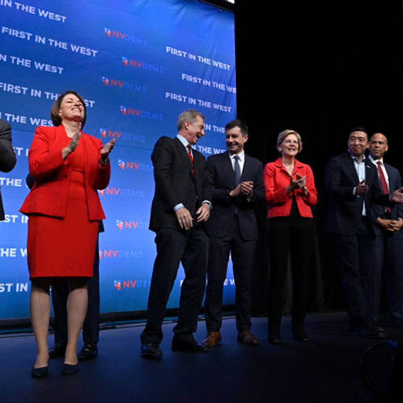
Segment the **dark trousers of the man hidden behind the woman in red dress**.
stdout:
[[[88,279],[88,307],[83,324],[84,344],[98,343],[100,324],[100,288],[99,288],[99,250],[98,241],[94,258],[94,276]],[[67,281],[55,281],[52,284],[52,302],[54,310],[54,341],[67,344]]]

